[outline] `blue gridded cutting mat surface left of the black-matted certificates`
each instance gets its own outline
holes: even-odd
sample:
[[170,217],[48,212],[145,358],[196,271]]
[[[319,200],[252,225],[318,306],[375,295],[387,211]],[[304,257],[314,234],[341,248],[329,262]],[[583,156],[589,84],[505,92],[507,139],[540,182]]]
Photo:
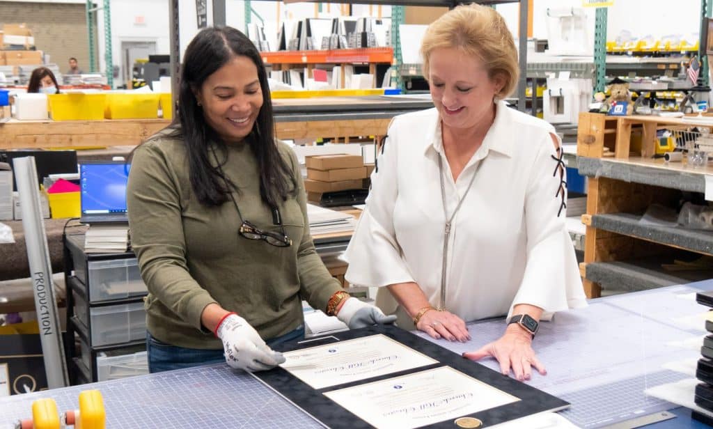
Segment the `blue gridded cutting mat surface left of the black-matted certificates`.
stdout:
[[34,400],[51,396],[59,410],[78,408],[81,391],[101,391],[111,428],[322,428],[255,378],[225,364],[72,386],[0,399],[0,429],[30,418]]

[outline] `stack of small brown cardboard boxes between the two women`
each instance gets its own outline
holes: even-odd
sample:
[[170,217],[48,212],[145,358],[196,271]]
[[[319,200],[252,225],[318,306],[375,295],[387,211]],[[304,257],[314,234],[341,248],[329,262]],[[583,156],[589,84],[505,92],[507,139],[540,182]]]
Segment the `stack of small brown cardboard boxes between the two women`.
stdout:
[[362,189],[368,177],[361,155],[313,155],[304,157],[304,162],[304,189],[311,202],[319,202],[327,192]]

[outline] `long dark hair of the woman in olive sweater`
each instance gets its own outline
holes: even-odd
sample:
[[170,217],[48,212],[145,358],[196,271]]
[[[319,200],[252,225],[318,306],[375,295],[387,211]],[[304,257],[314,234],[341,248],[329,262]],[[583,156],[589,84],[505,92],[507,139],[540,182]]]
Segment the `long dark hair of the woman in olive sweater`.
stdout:
[[279,201],[284,201],[297,190],[297,182],[291,168],[277,149],[265,66],[257,48],[245,34],[231,27],[210,27],[200,31],[188,44],[180,73],[178,115],[171,124],[174,128],[173,135],[178,135],[185,141],[190,184],[198,200],[205,205],[222,205],[228,201],[230,190],[227,184],[235,185],[222,175],[220,161],[217,167],[211,165],[208,148],[209,140],[215,141],[221,145],[225,154],[225,143],[220,141],[215,130],[205,122],[193,89],[200,88],[212,73],[225,66],[235,56],[250,58],[257,67],[257,78],[262,89],[262,108],[246,139],[257,158],[260,196],[271,207],[277,207]]

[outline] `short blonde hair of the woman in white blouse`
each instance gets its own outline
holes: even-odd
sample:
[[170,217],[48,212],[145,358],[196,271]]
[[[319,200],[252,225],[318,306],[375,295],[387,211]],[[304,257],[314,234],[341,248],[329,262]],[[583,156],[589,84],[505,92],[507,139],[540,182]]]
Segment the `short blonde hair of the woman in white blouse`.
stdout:
[[438,48],[457,48],[483,61],[490,78],[498,74],[503,76],[506,83],[497,94],[498,98],[505,98],[515,91],[519,74],[518,51],[513,34],[495,9],[478,4],[458,6],[426,29],[421,42],[426,80],[430,76],[431,52]]

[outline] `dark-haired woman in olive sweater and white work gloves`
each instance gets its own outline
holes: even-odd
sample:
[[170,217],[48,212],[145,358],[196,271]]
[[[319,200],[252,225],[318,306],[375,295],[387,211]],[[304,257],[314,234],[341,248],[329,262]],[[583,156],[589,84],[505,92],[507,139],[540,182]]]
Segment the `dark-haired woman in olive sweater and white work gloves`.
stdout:
[[250,39],[200,31],[179,91],[177,118],[135,150],[127,189],[149,370],[223,358],[272,368],[284,358],[271,347],[304,335],[303,298],[350,328],[393,321],[342,290],[315,252],[297,157],[275,140]]

